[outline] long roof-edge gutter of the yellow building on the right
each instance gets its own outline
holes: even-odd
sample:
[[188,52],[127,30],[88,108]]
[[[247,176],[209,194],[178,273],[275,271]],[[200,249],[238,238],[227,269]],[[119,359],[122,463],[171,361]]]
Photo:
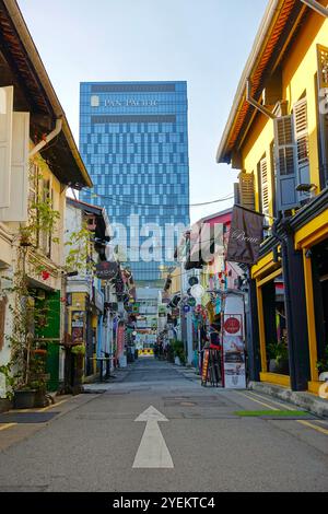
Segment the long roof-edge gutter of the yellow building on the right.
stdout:
[[261,25],[259,27],[255,43],[253,45],[250,56],[248,57],[245,69],[243,71],[243,75],[242,75],[237,92],[234,97],[233,107],[230,113],[229,120],[226,122],[221,142],[216,152],[218,164],[223,163],[223,162],[226,162],[229,164],[226,160],[225,161],[223,160],[223,154],[224,154],[225,147],[226,147],[226,140],[231,133],[234,121],[237,118],[237,115],[243,107],[243,97],[245,96],[245,83],[247,79],[251,77],[254,69],[260,59],[260,50],[263,47],[266,39],[268,39],[269,37],[268,36],[269,28],[272,25],[272,22],[274,21],[277,15],[279,14],[282,2],[283,0],[271,0],[267,8],[265,16],[262,19]]

